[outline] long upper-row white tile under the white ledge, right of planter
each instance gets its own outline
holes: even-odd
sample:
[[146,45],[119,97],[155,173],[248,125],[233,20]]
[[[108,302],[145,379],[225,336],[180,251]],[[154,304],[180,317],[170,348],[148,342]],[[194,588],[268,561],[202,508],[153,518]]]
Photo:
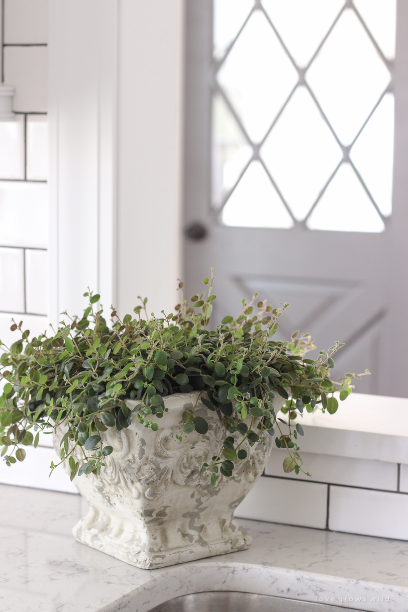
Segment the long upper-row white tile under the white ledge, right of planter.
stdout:
[[354,459],[351,457],[335,457],[334,455],[319,455],[299,451],[303,460],[302,468],[311,474],[311,478],[300,472],[284,474],[282,463],[286,452],[273,449],[265,468],[269,476],[286,476],[297,480],[328,482],[352,487],[368,487],[375,489],[397,490],[398,465],[387,461],[369,459]]

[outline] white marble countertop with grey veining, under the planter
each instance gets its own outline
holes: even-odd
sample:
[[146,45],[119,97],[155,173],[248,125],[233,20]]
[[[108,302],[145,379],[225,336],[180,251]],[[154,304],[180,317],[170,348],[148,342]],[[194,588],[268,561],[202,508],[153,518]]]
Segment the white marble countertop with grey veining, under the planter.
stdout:
[[75,542],[80,496],[0,485],[0,499],[0,612],[147,612],[206,590],[408,610],[408,542],[241,520],[248,550],[142,570]]

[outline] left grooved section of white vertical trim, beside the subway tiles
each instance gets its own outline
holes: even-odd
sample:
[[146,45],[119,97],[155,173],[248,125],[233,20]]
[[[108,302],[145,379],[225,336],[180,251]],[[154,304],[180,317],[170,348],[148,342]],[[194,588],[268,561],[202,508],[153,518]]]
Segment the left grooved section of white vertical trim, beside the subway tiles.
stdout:
[[114,301],[115,0],[50,2],[50,316]]

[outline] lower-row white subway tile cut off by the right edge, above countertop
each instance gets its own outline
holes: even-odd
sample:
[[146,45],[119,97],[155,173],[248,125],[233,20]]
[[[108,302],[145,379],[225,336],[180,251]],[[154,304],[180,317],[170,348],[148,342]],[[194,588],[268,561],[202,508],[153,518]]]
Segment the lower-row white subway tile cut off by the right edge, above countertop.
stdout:
[[408,540],[408,495],[330,487],[328,528]]

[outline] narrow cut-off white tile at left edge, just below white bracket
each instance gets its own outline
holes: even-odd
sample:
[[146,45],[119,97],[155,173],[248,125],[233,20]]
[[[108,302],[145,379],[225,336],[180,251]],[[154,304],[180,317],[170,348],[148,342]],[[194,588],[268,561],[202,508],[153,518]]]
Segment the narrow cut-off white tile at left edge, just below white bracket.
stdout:
[[24,115],[0,122],[0,179],[24,178]]

